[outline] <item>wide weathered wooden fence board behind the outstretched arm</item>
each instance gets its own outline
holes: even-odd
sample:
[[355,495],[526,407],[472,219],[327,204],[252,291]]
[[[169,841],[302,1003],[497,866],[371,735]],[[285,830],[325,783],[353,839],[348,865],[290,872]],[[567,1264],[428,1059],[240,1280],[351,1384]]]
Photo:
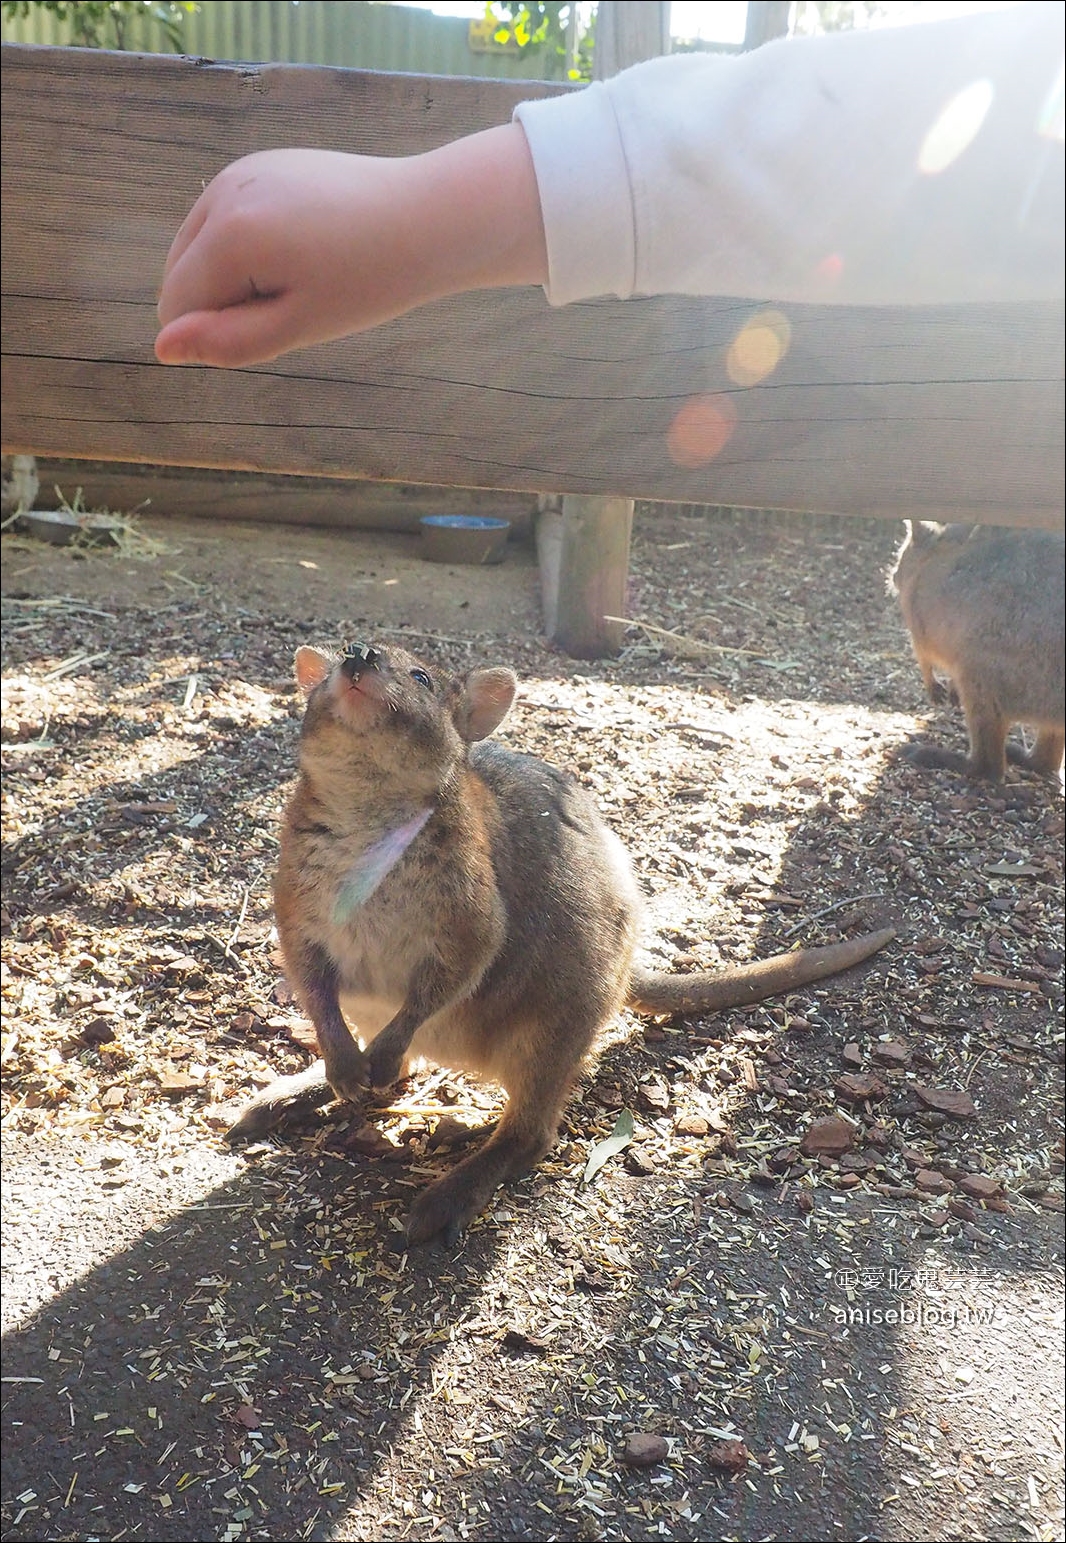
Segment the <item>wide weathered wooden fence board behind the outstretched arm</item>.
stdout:
[[[1061,526],[1061,306],[784,307],[750,387],[728,350],[757,298],[483,292],[268,367],[154,363],[170,239],[225,162],[410,153],[554,89],[6,45],[5,449]],[[730,432],[677,464],[708,400]]]

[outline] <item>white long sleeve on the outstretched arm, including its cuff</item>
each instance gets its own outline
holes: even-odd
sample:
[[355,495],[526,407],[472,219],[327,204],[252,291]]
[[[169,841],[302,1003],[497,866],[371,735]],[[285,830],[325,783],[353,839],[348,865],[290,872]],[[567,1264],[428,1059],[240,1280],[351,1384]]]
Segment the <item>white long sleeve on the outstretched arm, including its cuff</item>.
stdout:
[[548,299],[1061,298],[1063,14],[674,54],[523,102]]

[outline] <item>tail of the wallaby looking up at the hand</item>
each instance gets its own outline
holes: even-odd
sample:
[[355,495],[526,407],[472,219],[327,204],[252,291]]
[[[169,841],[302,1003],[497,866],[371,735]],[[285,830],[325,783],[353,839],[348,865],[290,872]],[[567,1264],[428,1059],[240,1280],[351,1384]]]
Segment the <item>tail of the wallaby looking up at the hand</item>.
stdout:
[[628,1003],[637,1012],[725,1012],[727,1008],[744,1008],[852,969],[895,935],[895,927],[884,927],[862,938],[845,938],[844,943],[830,943],[822,949],[774,954],[770,960],[714,974],[660,975],[634,971]]

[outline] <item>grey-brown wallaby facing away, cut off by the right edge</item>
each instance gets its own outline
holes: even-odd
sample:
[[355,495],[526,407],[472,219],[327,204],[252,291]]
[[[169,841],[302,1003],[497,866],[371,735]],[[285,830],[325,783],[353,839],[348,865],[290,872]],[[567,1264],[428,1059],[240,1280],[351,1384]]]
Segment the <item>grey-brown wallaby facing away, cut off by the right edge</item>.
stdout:
[[[932,702],[950,676],[970,753],[916,745],[907,759],[1003,781],[1006,759],[1051,776],[1063,759],[1063,535],[907,520],[890,586]],[[1026,755],[1012,724],[1037,730]]]

